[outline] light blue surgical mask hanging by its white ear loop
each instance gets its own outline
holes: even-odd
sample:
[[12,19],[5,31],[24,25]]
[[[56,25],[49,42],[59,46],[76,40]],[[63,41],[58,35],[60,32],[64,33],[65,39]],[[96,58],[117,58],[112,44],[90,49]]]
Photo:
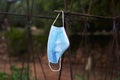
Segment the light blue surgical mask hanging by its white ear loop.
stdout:
[[[60,13],[57,15],[56,19],[54,20],[53,24],[51,25],[51,29],[49,32],[48,37],[48,44],[47,44],[47,55],[48,55],[48,62],[49,67],[52,71],[59,71],[61,68],[61,57],[63,53],[68,49],[70,43],[65,32],[64,28],[64,13],[62,11],[62,27],[54,26],[54,23],[58,19]],[[51,68],[50,63],[60,65],[58,70],[54,70]]]

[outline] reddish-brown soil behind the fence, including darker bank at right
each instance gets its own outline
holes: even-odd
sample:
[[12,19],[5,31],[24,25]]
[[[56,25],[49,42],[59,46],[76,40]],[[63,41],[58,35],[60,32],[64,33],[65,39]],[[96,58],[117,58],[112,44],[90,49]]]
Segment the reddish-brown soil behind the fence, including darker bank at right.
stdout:
[[[22,62],[13,58],[10,64],[8,61],[8,57],[4,51],[7,51],[5,50],[4,45],[0,45],[0,72],[5,71],[7,73],[11,73],[10,71],[11,65],[15,65],[16,67],[22,67]],[[78,53],[81,53],[81,50],[78,50]],[[114,64],[115,63],[114,62],[113,64],[115,67],[111,67],[113,64],[111,63],[107,64],[109,60],[108,56],[104,54],[102,54],[101,56],[99,55],[99,52],[93,52],[93,53],[97,53],[97,55],[95,54],[95,57],[94,57],[95,58],[94,61],[96,62],[95,63],[96,67],[94,67],[94,69],[92,70],[89,80],[113,80],[113,78],[120,76],[120,65]],[[24,59],[21,59],[21,60],[24,60]],[[84,71],[85,57],[84,55],[79,54],[79,55],[76,55],[75,57],[72,57],[71,60],[72,60],[71,65],[72,65],[73,80],[81,80],[81,79],[75,78],[75,76],[77,74],[85,75],[85,71]],[[41,58],[41,64],[43,66],[43,69],[38,60],[36,60],[35,62],[36,62],[35,69],[36,69],[37,80],[59,80],[58,79],[59,72],[53,72],[48,67],[47,55],[44,55],[44,57]],[[35,77],[35,73],[34,73],[35,69],[34,69],[34,64],[32,62],[30,62],[30,69],[31,69],[31,77]],[[43,73],[43,70],[45,72],[45,75]],[[69,64],[68,57],[66,56],[63,62],[63,68],[62,68],[60,80],[72,80],[70,75],[70,64]]]

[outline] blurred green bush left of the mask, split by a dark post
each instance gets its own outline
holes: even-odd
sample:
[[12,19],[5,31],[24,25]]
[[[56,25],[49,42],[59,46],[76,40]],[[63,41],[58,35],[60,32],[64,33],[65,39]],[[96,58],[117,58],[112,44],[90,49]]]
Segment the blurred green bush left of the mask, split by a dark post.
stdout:
[[[27,53],[27,33],[26,29],[12,27],[5,33],[9,53],[11,56],[18,56]],[[47,35],[33,34],[33,48],[35,51],[43,52],[47,45]]]

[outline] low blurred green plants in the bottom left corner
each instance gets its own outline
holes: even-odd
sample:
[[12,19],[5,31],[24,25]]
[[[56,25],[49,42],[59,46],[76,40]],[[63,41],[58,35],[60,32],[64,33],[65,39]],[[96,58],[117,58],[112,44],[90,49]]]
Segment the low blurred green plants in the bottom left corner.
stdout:
[[0,80],[27,80],[28,72],[27,67],[17,68],[16,66],[10,67],[11,74],[0,72]]

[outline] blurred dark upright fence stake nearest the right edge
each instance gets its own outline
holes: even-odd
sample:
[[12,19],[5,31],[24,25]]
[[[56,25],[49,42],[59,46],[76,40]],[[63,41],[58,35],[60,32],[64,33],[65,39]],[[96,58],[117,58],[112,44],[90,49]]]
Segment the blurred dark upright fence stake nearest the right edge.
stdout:
[[[118,36],[117,36],[117,29],[116,29],[116,20],[113,19],[113,29],[112,29],[113,35],[112,35],[112,42],[110,42],[110,48],[108,49],[108,57],[110,58],[110,60],[108,60],[107,62],[109,62],[109,64],[107,64],[108,69],[111,69],[109,72],[106,71],[106,75],[105,75],[105,80],[107,80],[107,75],[110,74],[110,80],[113,79],[113,72],[115,69],[115,61],[116,61],[116,57],[117,55],[115,55],[116,50],[118,49]],[[115,49],[117,48],[117,49]],[[113,57],[113,58],[112,58]],[[111,68],[109,68],[111,66]]]

